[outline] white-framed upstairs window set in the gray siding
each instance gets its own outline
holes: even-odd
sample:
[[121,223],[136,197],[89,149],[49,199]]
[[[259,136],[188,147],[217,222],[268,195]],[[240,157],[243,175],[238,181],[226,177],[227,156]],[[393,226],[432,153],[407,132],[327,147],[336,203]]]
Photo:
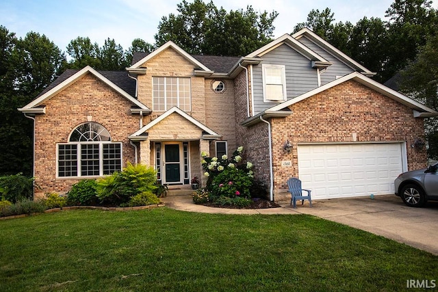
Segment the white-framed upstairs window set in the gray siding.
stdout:
[[262,64],[263,101],[286,101],[286,74],[284,65]]

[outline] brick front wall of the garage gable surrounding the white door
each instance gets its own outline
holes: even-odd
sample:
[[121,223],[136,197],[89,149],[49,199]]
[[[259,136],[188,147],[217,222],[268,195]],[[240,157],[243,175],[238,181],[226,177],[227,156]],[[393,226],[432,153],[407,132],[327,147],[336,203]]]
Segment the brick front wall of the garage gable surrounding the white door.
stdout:
[[[347,81],[289,107],[292,115],[272,120],[274,189],[285,189],[287,178],[298,176],[298,143],[406,142],[409,170],[426,166],[426,150],[411,148],[424,137],[424,121],[413,110],[370,88]],[[294,146],[288,154],[285,141]],[[281,168],[290,160],[292,168]]]

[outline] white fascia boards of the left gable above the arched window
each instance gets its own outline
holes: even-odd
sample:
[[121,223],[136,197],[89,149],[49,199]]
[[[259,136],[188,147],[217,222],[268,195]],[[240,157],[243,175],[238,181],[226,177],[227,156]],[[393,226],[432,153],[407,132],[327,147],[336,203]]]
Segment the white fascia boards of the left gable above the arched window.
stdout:
[[90,72],[95,77],[101,79],[101,81],[103,81],[103,83],[110,86],[110,88],[112,88],[113,90],[116,90],[116,92],[118,92],[123,97],[127,98],[127,100],[131,101],[131,103],[133,103],[134,105],[137,105],[138,107],[140,107],[141,109],[144,109],[145,111],[151,111],[151,109],[149,109],[149,107],[146,107],[146,105],[140,103],[140,101],[136,100],[136,98],[133,98],[132,96],[130,96],[127,92],[125,92],[125,90],[119,88],[116,84],[112,83],[112,81],[110,81],[109,79],[107,79],[106,77],[101,75],[101,73],[97,72],[96,70],[94,70],[90,66],[86,66],[86,67],[82,68],[81,70],[79,70],[78,72],[73,74],[72,76],[68,77],[68,79],[62,81],[60,84],[56,85],[54,88],[52,88],[48,92],[42,94],[42,96],[36,98],[34,101],[31,101],[31,103],[28,103],[27,105],[25,105],[23,107],[23,109],[30,109],[32,107],[36,107],[38,105],[41,105],[42,103],[44,103],[44,101],[47,101],[48,99],[55,96],[55,94],[57,94],[58,92],[61,92],[62,90],[64,90],[68,86],[70,86],[71,84],[75,83],[77,80],[79,80],[81,77],[86,75],[88,72]]

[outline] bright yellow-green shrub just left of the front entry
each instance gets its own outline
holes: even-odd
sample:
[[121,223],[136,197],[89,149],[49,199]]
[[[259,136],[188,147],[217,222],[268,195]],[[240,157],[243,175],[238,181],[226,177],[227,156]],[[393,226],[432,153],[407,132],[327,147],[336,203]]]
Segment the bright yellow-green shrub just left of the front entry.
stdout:
[[97,197],[103,204],[125,204],[133,196],[155,191],[156,181],[156,172],[153,168],[128,163],[123,171],[114,172],[97,181]]

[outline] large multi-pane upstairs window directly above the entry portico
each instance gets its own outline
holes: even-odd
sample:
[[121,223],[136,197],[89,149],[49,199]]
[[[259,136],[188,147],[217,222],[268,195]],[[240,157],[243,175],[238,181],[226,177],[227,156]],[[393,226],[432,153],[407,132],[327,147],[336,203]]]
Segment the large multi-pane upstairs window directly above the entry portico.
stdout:
[[190,111],[190,78],[183,77],[152,77],[153,110],[167,111],[179,107]]

